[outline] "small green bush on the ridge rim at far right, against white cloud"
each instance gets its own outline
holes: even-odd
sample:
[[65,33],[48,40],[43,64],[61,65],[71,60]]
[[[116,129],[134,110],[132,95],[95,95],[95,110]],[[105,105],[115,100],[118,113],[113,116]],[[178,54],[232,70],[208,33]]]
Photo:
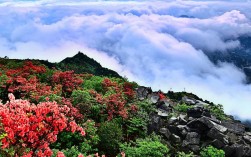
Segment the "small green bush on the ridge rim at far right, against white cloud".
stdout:
[[209,105],[208,109],[211,112],[211,114],[214,115],[216,118],[218,118],[220,120],[227,120],[228,119],[227,115],[224,113],[223,105],[221,105],[221,104]]

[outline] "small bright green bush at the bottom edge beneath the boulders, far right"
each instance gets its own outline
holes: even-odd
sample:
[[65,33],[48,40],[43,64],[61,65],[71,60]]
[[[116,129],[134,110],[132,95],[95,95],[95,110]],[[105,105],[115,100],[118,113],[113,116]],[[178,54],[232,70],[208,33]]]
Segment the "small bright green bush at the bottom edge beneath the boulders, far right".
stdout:
[[208,146],[200,152],[201,157],[225,157],[225,152],[213,146]]

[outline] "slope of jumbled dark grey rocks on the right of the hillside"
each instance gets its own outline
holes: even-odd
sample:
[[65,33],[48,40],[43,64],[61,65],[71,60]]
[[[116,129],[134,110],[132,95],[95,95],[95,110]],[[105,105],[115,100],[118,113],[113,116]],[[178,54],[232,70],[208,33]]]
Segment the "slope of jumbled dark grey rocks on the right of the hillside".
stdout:
[[[180,101],[160,99],[158,92],[142,86],[137,88],[137,97],[156,106],[148,130],[162,134],[174,149],[198,153],[201,147],[213,145],[228,157],[251,156],[250,128],[231,116],[220,120],[208,109],[211,104],[186,96]],[[177,111],[181,103],[188,106],[185,112]]]

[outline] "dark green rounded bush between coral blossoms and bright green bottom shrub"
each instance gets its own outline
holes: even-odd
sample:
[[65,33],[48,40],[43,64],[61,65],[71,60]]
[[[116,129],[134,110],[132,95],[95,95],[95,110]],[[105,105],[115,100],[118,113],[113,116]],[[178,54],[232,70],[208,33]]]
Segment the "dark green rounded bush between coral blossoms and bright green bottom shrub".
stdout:
[[121,126],[115,121],[101,123],[98,135],[100,137],[99,150],[107,155],[116,155],[119,152],[123,132]]

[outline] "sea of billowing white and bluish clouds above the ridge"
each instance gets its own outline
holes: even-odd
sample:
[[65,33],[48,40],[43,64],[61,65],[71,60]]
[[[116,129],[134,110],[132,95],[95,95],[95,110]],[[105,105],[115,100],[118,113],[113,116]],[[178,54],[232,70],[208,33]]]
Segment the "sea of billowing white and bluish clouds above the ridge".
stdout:
[[0,0],[0,57],[59,62],[81,51],[130,81],[185,88],[251,119],[243,71],[204,54],[251,36],[250,10],[248,0]]

